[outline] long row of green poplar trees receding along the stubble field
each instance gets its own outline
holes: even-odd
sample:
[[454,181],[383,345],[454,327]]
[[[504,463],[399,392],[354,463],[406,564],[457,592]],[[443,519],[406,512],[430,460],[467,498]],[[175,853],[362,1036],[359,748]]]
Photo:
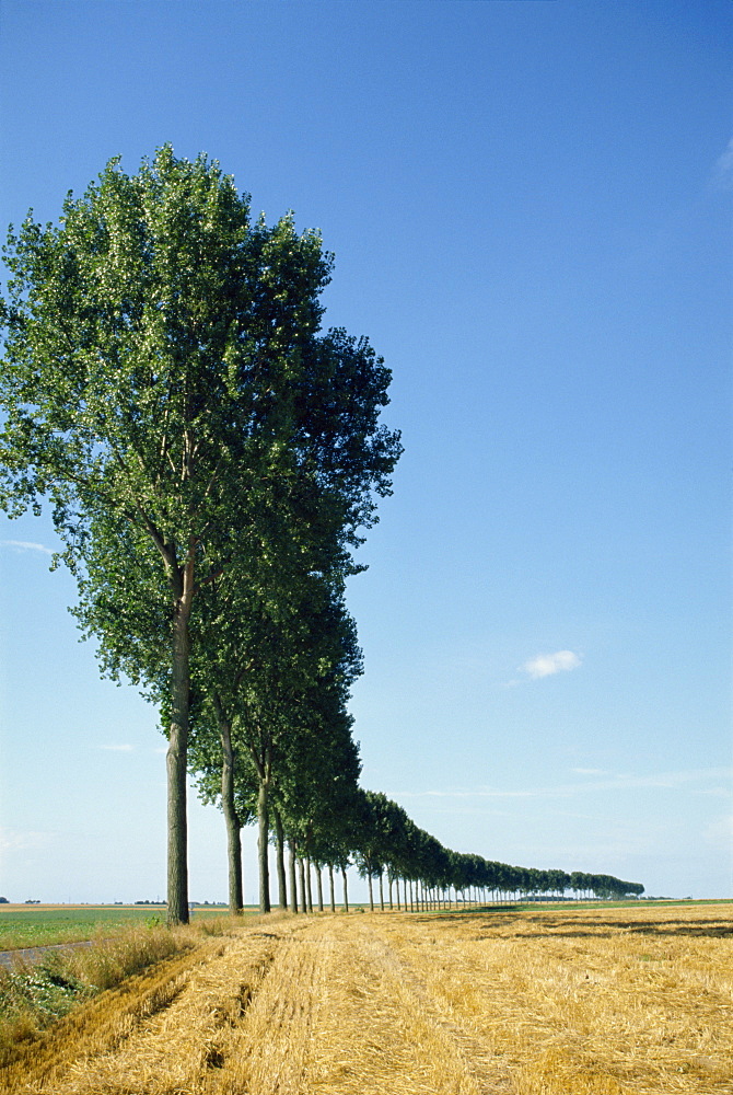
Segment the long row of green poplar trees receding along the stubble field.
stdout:
[[50,505],[102,671],[161,711],[170,921],[188,919],[189,773],[223,810],[235,911],[254,820],[264,911],[270,839],[281,903],[288,871],[304,895],[306,864],[346,885],[352,858],[370,892],[385,874],[511,889],[359,791],[345,585],[402,450],[382,359],[321,328],[319,235],[253,220],[216,162],[165,146],[137,175],[112,160],[58,224],[28,215],[5,256],[0,505]]

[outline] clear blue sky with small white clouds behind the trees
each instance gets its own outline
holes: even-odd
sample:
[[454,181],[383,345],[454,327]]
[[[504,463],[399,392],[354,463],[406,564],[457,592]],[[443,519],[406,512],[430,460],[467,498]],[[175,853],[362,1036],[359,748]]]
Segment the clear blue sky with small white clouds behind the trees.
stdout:
[[[447,846],[733,894],[728,2],[0,5],[0,222],[109,157],[219,159],[336,254],[394,372],[349,606],[365,786]],[[0,523],[0,892],[164,891],[155,712]],[[190,891],[225,899],[191,796]],[[245,861],[254,897],[254,842]]]

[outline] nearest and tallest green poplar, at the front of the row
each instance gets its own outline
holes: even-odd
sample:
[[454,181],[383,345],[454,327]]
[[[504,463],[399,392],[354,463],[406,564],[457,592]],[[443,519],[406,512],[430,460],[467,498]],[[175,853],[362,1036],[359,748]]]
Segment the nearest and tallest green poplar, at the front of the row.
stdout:
[[164,146],[132,176],[109,161],[58,224],[11,229],[5,256],[0,505],[50,504],[103,659],[153,691],[165,664],[168,920],[186,922],[201,591],[263,551],[294,468],[338,496],[358,539],[399,453],[376,422],[388,371],[366,343],[318,334],[318,233],[253,223],[203,155]]

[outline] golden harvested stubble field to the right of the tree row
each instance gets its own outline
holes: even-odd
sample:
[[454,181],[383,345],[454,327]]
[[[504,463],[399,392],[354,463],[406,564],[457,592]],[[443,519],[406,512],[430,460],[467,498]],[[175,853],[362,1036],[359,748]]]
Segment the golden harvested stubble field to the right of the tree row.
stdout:
[[733,906],[263,918],[83,1005],[0,1090],[733,1093]]

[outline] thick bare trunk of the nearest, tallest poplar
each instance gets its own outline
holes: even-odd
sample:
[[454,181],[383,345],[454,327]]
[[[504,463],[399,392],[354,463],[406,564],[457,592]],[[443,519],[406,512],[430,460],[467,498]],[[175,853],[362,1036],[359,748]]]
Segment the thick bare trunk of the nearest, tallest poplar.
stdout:
[[[177,577],[177,575],[176,575]],[[186,822],[186,768],[188,708],[190,703],[190,601],[193,564],[176,589],[171,667],[171,734],[165,758],[167,772],[167,922],[188,923],[188,832]]]

